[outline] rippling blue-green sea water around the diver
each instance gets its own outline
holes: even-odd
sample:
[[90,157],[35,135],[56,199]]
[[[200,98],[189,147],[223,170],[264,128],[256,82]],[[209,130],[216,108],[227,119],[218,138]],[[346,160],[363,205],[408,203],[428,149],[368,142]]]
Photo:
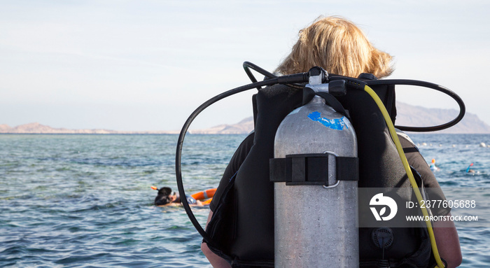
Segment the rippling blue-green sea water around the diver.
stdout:
[[[410,135],[442,188],[489,199],[490,135]],[[245,135],[186,136],[186,192],[215,188]],[[0,135],[0,267],[211,267],[176,189],[176,135]],[[476,172],[465,172],[469,164]],[[486,196],[489,195],[489,196]],[[209,209],[194,208],[204,227]],[[477,211],[489,219],[490,211]],[[459,225],[462,267],[489,267],[490,226]]]

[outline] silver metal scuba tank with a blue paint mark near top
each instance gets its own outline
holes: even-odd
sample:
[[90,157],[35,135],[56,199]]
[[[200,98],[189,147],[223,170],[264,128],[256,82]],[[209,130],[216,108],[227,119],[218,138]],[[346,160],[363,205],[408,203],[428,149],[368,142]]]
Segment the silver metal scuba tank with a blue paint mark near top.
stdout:
[[275,267],[358,267],[358,182],[346,178],[358,169],[351,122],[315,96],[279,125],[274,160]]

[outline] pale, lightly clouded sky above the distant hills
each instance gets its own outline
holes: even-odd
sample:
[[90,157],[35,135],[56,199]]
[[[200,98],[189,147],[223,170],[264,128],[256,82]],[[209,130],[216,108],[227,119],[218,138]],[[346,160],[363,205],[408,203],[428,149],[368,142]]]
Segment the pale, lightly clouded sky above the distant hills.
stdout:
[[[300,29],[339,15],[393,55],[388,78],[448,87],[490,125],[490,2],[402,2],[0,0],[0,124],[181,129],[204,101],[250,83],[243,62],[274,71]],[[211,106],[191,129],[251,116],[254,91]],[[457,108],[418,87],[396,94]]]

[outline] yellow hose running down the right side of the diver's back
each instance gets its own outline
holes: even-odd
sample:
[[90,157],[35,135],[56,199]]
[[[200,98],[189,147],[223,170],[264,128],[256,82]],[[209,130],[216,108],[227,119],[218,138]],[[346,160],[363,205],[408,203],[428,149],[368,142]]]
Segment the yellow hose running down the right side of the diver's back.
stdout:
[[[386,121],[386,125],[388,126],[388,130],[391,135],[391,139],[393,139],[393,142],[395,143],[396,150],[398,150],[398,155],[400,155],[400,160],[402,160],[403,167],[405,168],[405,171],[407,172],[407,176],[410,180],[410,183],[412,184],[412,188],[414,189],[415,196],[417,200],[419,201],[419,204],[422,203],[422,195],[419,190],[419,186],[416,184],[414,174],[412,174],[412,169],[410,169],[410,166],[407,161],[407,157],[405,156],[405,153],[403,153],[403,148],[400,143],[400,139],[398,139],[398,135],[396,134],[395,131],[395,126],[393,126],[393,122],[391,122],[390,115],[388,114],[388,111],[386,111],[386,108],[384,107],[383,102],[381,99],[379,99],[378,95],[372,90],[371,87],[368,85],[364,86],[364,91],[367,92],[367,94],[370,94],[372,99],[376,102],[377,106],[379,106],[379,110],[383,114],[384,120]],[[435,237],[434,237],[434,230],[432,228],[432,224],[430,223],[430,220],[428,220],[428,212],[427,209],[424,206],[420,207],[422,214],[424,218],[426,218],[426,225],[427,225],[427,231],[430,237],[430,245],[432,246],[432,251],[435,257],[435,262],[437,262],[437,267],[439,268],[444,268],[444,262],[442,262],[439,251],[437,250],[437,244],[435,244]]]

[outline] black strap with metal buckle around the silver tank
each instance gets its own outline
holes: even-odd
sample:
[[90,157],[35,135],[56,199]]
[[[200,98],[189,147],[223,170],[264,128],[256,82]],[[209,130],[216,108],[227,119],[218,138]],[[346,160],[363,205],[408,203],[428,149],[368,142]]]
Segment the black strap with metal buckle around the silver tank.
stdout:
[[[332,165],[330,165],[332,164]],[[332,153],[310,153],[286,155],[286,158],[269,160],[270,181],[286,182],[286,185],[325,185],[328,184],[328,167],[335,167],[337,181],[359,180],[358,157],[339,157]]]

